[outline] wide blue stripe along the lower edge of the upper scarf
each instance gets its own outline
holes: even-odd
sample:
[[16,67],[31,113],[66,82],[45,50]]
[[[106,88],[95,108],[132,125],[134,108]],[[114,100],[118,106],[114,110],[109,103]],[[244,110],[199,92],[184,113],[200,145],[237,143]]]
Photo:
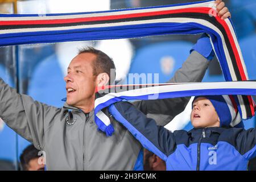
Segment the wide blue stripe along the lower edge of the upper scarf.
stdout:
[[226,81],[232,81],[225,52],[218,33],[199,23],[148,23],[129,26],[82,28],[78,30],[39,31],[14,34],[0,34],[0,46],[28,43],[55,43],[77,40],[103,40],[121,38],[139,38],[142,36],[167,34],[200,34],[206,32],[212,37],[214,49]]

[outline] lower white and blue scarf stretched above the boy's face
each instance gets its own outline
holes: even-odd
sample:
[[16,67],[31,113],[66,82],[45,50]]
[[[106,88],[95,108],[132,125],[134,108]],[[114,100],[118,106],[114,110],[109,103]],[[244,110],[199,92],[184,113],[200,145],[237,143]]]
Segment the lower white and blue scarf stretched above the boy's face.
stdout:
[[[237,97],[234,95],[256,95],[256,81],[232,81],[232,82],[195,82],[195,83],[176,83],[160,85],[115,85],[106,86],[105,90],[96,93],[94,104],[94,117],[98,129],[104,131],[107,136],[114,132],[110,122],[108,106],[119,101],[129,100],[156,100],[175,97],[188,96],[215,96],[230,95],[232,104],[241,110],[236,103]],[[117,90],[126,90],[117,92]],[[232,95],[232,96],[231,96]],[[232,126],[242,127],[241,120],[232,123]]]

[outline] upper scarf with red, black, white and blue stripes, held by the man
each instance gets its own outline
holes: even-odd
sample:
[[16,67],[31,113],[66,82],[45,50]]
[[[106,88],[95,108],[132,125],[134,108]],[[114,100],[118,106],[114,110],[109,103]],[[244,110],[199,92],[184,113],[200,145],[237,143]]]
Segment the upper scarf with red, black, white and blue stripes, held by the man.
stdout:
[[[207,33],[226,81],[248,80],[230,19],[212,9],[214,1],[138,9],[69,14],[0,14],[0,46],[80,40]],[[250,96],[236,96],[243,119],[254,115]]]

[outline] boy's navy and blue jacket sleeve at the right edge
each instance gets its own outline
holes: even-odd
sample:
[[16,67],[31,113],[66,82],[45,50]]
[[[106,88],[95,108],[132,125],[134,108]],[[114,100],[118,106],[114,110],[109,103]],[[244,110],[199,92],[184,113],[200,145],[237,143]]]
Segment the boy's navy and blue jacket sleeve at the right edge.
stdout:
[[256,157],[256,130],[241,131],[236,138],[237,149],[247,160]]

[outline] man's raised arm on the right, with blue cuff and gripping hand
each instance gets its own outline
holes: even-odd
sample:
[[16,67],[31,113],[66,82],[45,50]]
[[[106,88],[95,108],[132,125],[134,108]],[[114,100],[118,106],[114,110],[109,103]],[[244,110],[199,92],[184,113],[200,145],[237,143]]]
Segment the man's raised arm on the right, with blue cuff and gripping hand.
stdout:
[[[231,17],[230,12],[222,0],[216,0],[216,10],[222,19]],[[210,44],[210,39],[203,34],[197,43],[192,47],[188,59],[182,67],[175,72],[174,77],[168,83],[177,82],[201,82],[209,66],[209,61],[214,57],[214,51]],[[177,114],[180,114],[187,106],[190,97],[171,98],[164,100],[135,101],[137,106],[144,114],[151,114],[160,126],[166,125]]]

